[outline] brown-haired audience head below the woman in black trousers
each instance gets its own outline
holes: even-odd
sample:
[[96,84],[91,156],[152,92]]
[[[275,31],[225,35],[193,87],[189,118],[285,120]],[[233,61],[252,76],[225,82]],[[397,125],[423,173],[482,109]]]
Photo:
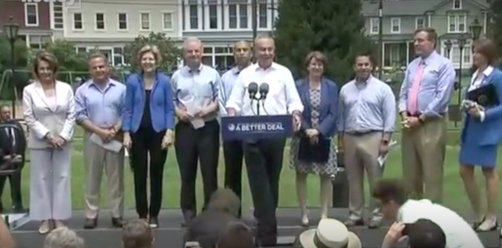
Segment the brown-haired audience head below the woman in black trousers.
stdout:
[[147,221],[135,219],[122,227],[123,248],[150,248],[153,243],[154,233]]

